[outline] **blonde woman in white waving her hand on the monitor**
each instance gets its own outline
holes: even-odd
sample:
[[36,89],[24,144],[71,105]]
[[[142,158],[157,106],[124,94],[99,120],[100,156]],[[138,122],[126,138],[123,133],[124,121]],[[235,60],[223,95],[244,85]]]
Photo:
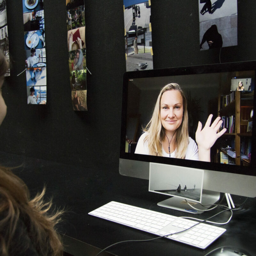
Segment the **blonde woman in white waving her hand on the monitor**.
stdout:
[[211,114],[203,129],[202,123],[198,122],[195,142],[188,136],[188,110],[184,92],[179,84],[167,84],[158,95],[151,120],[143,129],[135,154],[210,162],[211,147],[226,132],[226,128],[218,132],[222,124],[220,119],[218,116],[211,125]]

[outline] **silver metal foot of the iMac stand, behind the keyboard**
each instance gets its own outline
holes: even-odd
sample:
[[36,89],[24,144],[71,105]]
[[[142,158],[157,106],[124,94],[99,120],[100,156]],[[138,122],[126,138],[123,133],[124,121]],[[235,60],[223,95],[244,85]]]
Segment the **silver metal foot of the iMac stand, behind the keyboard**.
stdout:
[[195,201],[189,201],[187,199],[189,204],[191,204],[193,207],[195,207],[198,210],[195,210],[194,208],[192,208],[185,201],[184,198],[175,197],[175,196],[173,196],[171,198],[168,198],[168,199],[166,199],[162,202],[159,202],[159,203],[157,203],[157,205],[162,206],[162,207],[166,207],[166,208],[170,208],[170,209],[174,209],[174,210],[178,210],[178,211],[182,211],[182,212],[189,212],[189,213],[193,213],[193,214],[201,214],[201,213],[204,212],[204,211],[201,211],[201,210],[206,210],[212,204],[215,204],[219,199],[220,199],[220,193],[219,192],[203,189],[201,204],[207,205],[206,207],[202,206],[199,203],[196,203]]

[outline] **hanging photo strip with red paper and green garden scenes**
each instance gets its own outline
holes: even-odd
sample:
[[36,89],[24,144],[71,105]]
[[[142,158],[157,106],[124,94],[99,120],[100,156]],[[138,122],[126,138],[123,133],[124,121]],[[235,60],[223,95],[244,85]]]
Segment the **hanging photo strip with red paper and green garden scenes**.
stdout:
[[73,110],[87,111],[84,1],[66,0],[68,65]]

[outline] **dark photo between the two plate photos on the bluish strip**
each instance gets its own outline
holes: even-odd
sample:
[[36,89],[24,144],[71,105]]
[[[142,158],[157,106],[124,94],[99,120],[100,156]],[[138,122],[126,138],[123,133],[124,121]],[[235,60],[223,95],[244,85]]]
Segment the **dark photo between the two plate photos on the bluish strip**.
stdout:
[[44,29],[44,10],[23,13],[24,31]]

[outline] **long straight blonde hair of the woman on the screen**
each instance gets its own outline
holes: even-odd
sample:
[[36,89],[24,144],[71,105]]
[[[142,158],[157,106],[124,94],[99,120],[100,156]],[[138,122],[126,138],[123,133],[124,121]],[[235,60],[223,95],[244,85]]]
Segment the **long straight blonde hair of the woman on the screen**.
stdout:
[[185,158],[186,151],[188,148],[188,110],[187,110],[187,99],[184,92],[180,89],[179,84],[170,83],[166,84],[160,91],[156,100],[156,105],[152,114],[152,117],[146,127],[143,129],[144,132],[148,132],[144,142],[148,143],[149,155],[163,156],[162,154],[162,141],[164,140],[164,127],[161,123],[160,117],[160,102],[162,95],[166,91],[177,90],[180,92],[183,100],[183,119],[180,127],[177,129],[177,148],[175,150],[176,158]]

